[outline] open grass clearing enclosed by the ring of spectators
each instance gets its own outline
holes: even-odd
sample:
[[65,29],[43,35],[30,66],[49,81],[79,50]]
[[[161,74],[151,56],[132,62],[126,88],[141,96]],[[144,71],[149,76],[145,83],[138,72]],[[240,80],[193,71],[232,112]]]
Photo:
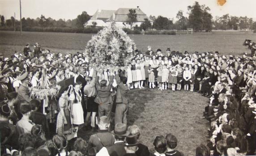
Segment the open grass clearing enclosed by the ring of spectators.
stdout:
[[[141,128],[140,141],[151,152],[155,137],[169,133],[177,137],[177,150],[184,156],[194,156],[196,147],[206,144],[209,123],[202,118],[206,97],[195,92],[135,89],[129,91],[128,99],[128,125]],[[78,136],[86,140],[90,135],[89,131],[78,131]]]

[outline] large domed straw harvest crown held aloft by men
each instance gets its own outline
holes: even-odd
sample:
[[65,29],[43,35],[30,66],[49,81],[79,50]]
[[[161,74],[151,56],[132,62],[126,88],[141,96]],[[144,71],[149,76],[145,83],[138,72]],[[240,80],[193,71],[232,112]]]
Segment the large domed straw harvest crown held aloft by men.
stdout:
[[132,39],[111,22],[87,42],[85,54],[93,67],[127,67],[135,49]]

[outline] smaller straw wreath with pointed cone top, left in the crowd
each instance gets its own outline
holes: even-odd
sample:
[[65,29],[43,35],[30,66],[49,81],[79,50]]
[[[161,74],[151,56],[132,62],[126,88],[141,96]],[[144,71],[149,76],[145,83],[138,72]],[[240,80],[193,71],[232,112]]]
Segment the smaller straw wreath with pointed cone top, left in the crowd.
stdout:
[[42,77],[37,87],[31,87],[30,93],[32,97],[38,97],[40,99],[46,99],[47,97],[56,97],[60,87],[51,85],[47,79],[46,68],[43,67]]

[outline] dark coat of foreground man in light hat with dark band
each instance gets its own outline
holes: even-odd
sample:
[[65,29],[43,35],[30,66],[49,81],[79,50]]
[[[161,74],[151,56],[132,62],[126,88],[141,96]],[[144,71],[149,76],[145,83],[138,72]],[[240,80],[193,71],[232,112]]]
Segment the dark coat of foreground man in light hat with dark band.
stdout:
[[126,151],[124,149],[125,143],[115,143],[107,148],[107,152],[110,156],[124,156]]

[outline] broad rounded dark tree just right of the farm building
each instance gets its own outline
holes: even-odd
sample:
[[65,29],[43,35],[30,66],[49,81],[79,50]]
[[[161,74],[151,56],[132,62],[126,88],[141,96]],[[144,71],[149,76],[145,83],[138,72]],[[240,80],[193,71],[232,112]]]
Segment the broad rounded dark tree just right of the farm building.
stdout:
[[157,30],[170,30],[172,25],[172,21],[167,17],[158,16],[154,21],[153,28]]

